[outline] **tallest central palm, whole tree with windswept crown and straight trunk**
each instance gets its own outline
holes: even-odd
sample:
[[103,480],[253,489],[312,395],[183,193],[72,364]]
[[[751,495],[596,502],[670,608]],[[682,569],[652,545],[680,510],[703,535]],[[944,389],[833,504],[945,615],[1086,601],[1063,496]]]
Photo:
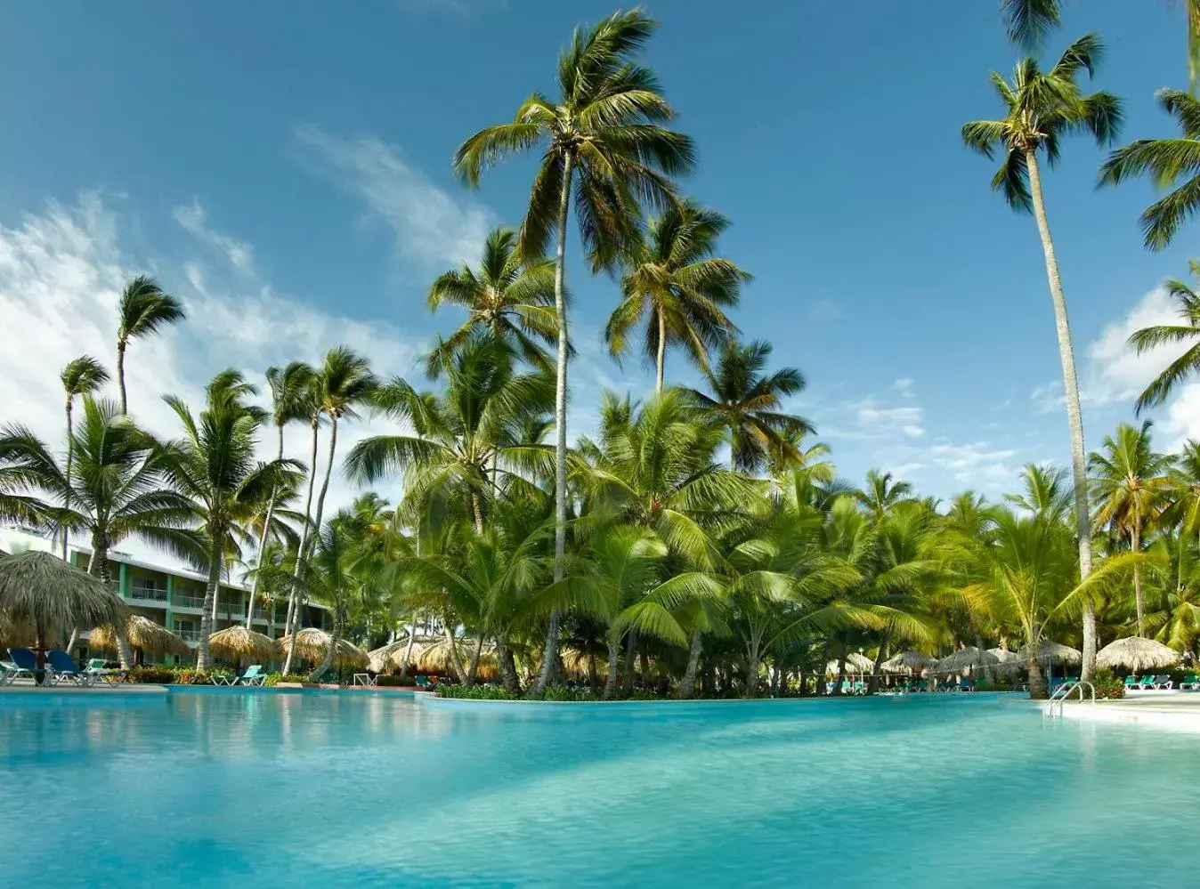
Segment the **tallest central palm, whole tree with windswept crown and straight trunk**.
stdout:
[[[563,576],[566,547],[566,224],[571,197],[593,268],[610,268],[632,242],[640,203],[660,206],[673,199],[667,176],[691,169],[691,140],[662,126],[674,112],[653,72],[634,59],[656,23],[641,10],[618,11],[595,26],[577,28],[558,60],[558,101],[534,92],[511,122],[486,127],[455,152],[462,180],[509,155],[545,144],[521,226],[518,250],[526,258],[545,254],[557,234],[554,316],[558,328],[554,421],[554,558]],[[551,617],[546,654],[534,690],[542,691],[558,661],[559,615]]]

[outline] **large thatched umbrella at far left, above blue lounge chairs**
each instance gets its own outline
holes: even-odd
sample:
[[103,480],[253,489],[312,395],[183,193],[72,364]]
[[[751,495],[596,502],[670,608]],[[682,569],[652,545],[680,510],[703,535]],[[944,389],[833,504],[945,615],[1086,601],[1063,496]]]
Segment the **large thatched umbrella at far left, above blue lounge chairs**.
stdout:
[[120,623],[126,613],[114,587],[56,555],[30,551],[0,558],[2,623],[34,626],[38,667],[52,630]]

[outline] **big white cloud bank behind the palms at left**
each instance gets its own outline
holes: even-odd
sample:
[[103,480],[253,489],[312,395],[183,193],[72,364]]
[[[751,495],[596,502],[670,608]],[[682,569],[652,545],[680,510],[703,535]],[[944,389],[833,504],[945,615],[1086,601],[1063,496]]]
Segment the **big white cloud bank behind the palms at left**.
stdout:
[[[12,228],[0,224],[0,329],[8,343],[0,350],[0,403],[6,420],[31,427],[55,445],[62,442],[64,422],[59,371],[80,354],[112,370],[118,294],[132,275],[145,271],[144,263],[122,253],[119,222],[98,196],[84,194],[74,206],[50,203]],[[161,436],[179,431],[161,396],[179,395],[198,410],[205,382],[224,367],[238,367],[259,384],[265,403],[263,372],[271,364],[316,362],[328,348],[346,343],[367,356],[378,373],[407,374],[422,350],[384,322],[334,316],[270,288],[223,290],[205,280],[197,263],[187,263],[182,276],[154,271],[184,299],[188,316],[161,336],[132,343],[126,359],[130,410]],[[386,421],[347,424],[338,453],[383,431],[395,427]],[[274,456],[272,437],[264,433],[263,439],[263,456]],[[289,456],[307,461],[307,431],[289,430],[286,446]],[[323,452],[318,467],[324,465]],[[392,499],[396,488],[379,486]],[[355,493],[335,468],[326,515]],[[122,548],[164,558],[134,541]]]

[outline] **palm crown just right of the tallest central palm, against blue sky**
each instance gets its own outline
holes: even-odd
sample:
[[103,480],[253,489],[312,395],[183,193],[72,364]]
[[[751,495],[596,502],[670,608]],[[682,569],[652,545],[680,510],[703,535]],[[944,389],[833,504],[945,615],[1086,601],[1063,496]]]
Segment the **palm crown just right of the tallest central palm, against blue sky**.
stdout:
[[622,301],[608,318],[605,341],[620,360],[630,332],[646,324],[646,358],[654,362],[655,391],[662,391],[670,346],[683,346],[692,362],[708,370],[708,350],[738,332],[725,314],[736,306],[750,275],[713,256],[728,220],[715,210],[684,200],[650,220],[646,238],[622,258]]

